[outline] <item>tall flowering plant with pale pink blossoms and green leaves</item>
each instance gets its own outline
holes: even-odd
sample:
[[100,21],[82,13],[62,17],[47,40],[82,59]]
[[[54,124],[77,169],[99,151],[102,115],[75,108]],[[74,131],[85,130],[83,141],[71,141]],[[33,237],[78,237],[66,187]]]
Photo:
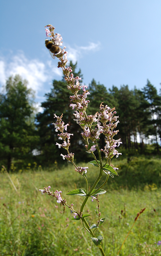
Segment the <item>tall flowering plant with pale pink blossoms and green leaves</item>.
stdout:
[[[67,126],[69,124],[64,124],[62,121],[63,114],[59,117],[54,115],[54,118],[56,119],[55,123],[53,125],[55,126],[55,131],[59,132],[58,137],[60,140],[60,144],[56,143],[59,148],[66,149],[67,153],[66,155],[62,155],[63,160],[67,160],[68,162],[71,162],[74,166],[74,170],[78,172],[80,175],[82,175],[83,179],[85,180],[85,188],[77,188],[67,193],[67,195],[78,195],[83,196],[84,201],[80,207],[80,209],[74,209],[73,204],[67,204],[66,198],[63,199],[61,196],[61,191],[56,190],[55,192],[50,192],[50,186],[44,187],[44,189],[39,189],[42,194],[47,193],[48,195],[56,198],[57,203],[66,205],[74,214],[72,220],[82,220],[84,228],[89,232],[92,241],[95,243],[97,247],[99,247],[101,254],[105,256],[105,253],[101,247],[101,241],[103,240],[103,236],[99,235],[96,237],[95,230],[99,228],[103,222],[105,221],[105,218],[101,218],[101,212],[99,210],[100,204],[99,204],[99,195],[106,193],[105,190],[103,190],[103,186],[106,184],[109,176],[112,178],[113,175],[118,175],[116,169],[111,164],[111,159],[116,155],[121,155],[121,153],[118,153],[116,150],[116,147],[118,147],[122,142],[120,139],[115,140],[113,137],[118,133],[118,130],[115,130],[118,124],[118,116],[115,116],[116,111],[115,108],[110,108],[107,105],[104,106],[103,102],[100,105],[100,111],[99,113],[95,113],[95,115],[87,115],[86,109],[88,107],[89,100],[87,100],[88,94],[90,94],[86,88],[85,85],[80,85],[79,81],[81,78],[79,76],[73,77],[72,69],[71,67],[66,67],[67,63],[67,52],[65,51],[64,47],[61,49],[59,46],[62,46],[62,37],[60,34],[54,34],[54,27],[52,25],[47,25],[46,35],[47,37],[50,37],[51,40],[45,40],[46,47],[49,49],[50,54],[53,58],[57,57],[59,59],[58,62],[58,68],[61,67],[63,70],[63,74],[65,76],[65,80],[67,82],[67,88],[71,91],[70,99],[72,100],[72,104],[70,106],[72,109],[75,109],[75,121],[78,125],[82,128],[82,137],[86,141],[85,150],[87,153],[92,154],[94,160],[89,162],[90,164],[94,165],[95,167],[99,168],[99,174],[97,179],[95,180],[93,186],[88,189],[88,180],[87,180],[87,169],[88,167],[82,167],[77,166],[74,162],[74,153],[70,152],[70,137],[73,136],[73,134],[70,134],[67,132]],[[83,93],[79,94],[79,92],[83,89]],[[100,149],[98,146],[98,140],[100,134],[103,133],[105,136],[105,147],[104,149]],[[98,159],[95,156],[95,151],[98,152]],[[105,154],[106,162],[105,164],[102,163],[102,156],[101,151]],[[102,185],[97,187],[98,182],[102,178],[103,172],[106,173],[106,180],[102,181]],[[97,202],[97,210],[95,210],[98,220],[97,223],[89,226],[88,224],[88,216],[90,214],[84,213],[83,209],[84,206],[87,204],[88,199],[91,198],[92,201],[96,200]]]

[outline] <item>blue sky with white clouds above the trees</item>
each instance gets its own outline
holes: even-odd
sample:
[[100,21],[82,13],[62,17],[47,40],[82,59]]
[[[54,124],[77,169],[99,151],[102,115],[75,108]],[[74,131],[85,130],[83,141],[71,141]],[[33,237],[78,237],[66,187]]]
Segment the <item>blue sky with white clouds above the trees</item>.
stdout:
[[62,72],[45,47],[44,26],[63,38],[68,60],[78,61],[83,82],[106,88],[161,88],[160,0],[5,0],[0,4],[0,87],[20,74],[44,101]]

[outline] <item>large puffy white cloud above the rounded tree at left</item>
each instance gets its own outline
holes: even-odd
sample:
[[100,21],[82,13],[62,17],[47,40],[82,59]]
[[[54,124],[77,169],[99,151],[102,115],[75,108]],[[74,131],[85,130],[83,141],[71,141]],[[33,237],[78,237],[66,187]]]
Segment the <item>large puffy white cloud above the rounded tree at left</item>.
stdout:
[[11,57],[8,61],[0,61],[0,84],[3,86],[9,76],[16,74],[28,81],[28,88],[32,88],[36,95],[44,90],[44,83],[49,83],[53,79],[53,73],[62,76],[56,64],[47,62],[46,64],[37,59],[27,59],[23,53]]

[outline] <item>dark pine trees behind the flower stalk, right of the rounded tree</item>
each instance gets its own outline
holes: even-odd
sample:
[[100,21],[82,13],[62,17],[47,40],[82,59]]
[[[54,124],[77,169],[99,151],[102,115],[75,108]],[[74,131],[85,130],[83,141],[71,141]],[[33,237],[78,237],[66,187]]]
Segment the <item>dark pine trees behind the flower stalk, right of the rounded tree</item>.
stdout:
[[[74,75],[81,76],[81,70],[78,71],[79,74],[75,71],[77,63],[75,65],[70,63],[70,65],[72,66]],[[89,84],[88,90],[90,92],[90,95],[88,95],[88,99],[90,100],[87,109],[88,114],[95,114],[101,102],[104,102],[104,105],[107,104],[109,107],[116,107],[120,121],[118,124],[119,133],[116,137],[121,138],[123,142],[121,148],[126,149],[127,154],[130,154],[130,151],[132,152],[131,154],[149,154],[147,150],[148,146],[143,143],[143,139],[149,135],[152,135],[156,141],[156,147],[152,153],[157,152],[157,154],[160,154],[160,146],[157,138],[161,134],[161,98],[149,81],[142,90],[136,88],[129,90],[128,85],[123,85],[120,89],[113,86],[112,89],[107,91],[104,85],[97,84],[93,79]],[[66,82],[54,80],[51,93],[46,94],[47,100],[42,103],[44,112],[37,115],[37,127],[41,137],[39,149],[42,152],[39,159],[41,159],[42,164],[45,161],[49,165],[55,160],[62,162],[60,154],[66,154],[64,149],[58,149],[55,146],[55,143],[59,143],[59,141],[55,128],[52,125],[53,113],[56,113],[58,116],[64,113],[63,121],[70,124],[68,132],[74,134],[71,137],[70,152],[75,154],[76,161],[83,160],[87,162],[90,159],[91,155],[86,154],[84,150],[84,140],[80,135],[82,130],[73,121],[74,110],[69,107],[70,103],[72,103],[69,96],[70,93],[66,88]],[[157,119],[154,118],[155,115],[157,115]],[[141,143],[137,142],[138,135],[141,138]],[[134,142],[131,141],[132,137]],[[93,142],[90,142],[88,149],[93,144]],[[100,135],[98,144],[100,148],[104,148],[105,141],[102,135]],[[106,170],[104,169],[104,171]],[[115,175],[117,175],[117,172]]]

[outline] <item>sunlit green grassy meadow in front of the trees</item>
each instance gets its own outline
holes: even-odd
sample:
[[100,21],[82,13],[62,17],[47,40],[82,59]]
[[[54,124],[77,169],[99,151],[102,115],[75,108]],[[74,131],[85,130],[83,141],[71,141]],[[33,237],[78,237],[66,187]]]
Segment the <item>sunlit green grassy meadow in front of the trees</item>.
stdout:
[[[103,235],[102,247],[106,256],[116,256],[126,235],[139,216],[122,247],[119,256],[161,255],[161,160],[131,158],[127,162],[115,160],[119,177],[110,177],[100,195],[101,217],[106,217],[98,235]],[[92,165],[87,172],[91,180],[98,176]],[[42,195],[38,189],[51,186],[62,191],[62,198],[74,204],[79,211],[83,197],[66,196],[75,188],[85,188],[84,179],[72,165],[61,170],[27,170],[10,173],[17,191],[5,172],[0,173],[0,256],[99,256],[81,220],[72,221],[73,214],[60,206],[53,197]],[[105,176],[104,176],[105,178]],[[96,201],[89,199],[84,213],[92,214],[86,220],[97,222]]]

